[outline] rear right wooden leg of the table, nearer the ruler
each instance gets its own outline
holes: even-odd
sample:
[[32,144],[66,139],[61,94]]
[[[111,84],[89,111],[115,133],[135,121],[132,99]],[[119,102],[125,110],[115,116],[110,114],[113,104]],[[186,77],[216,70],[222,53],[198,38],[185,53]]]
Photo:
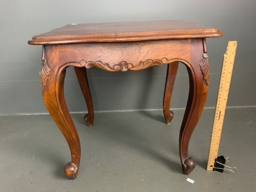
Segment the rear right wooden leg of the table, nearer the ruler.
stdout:
[[164,99],[163,99],[163,112],[166,124],[170,124],[172,118],[174,118],[174,112],[170,111],[170,103],[172,97],[172,90],[174,90],[174,82],[177,74],[179,61],[171,62],[167,66],[166,74],[166,86],[164,88]]

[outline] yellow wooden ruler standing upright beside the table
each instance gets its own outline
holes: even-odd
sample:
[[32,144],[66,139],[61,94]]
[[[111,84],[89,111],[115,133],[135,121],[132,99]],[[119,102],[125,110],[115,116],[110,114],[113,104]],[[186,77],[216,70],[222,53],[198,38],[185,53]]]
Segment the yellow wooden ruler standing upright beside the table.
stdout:
[[212,128],[212,138],[210,139],[210,149],[207,163],[207,170],[213,170],[215,159],[218,156],[220,137],[224,122],[226,102],[228,101],[230,81],[236,56],[237,41],[229,41],[226,53],[223,57],[220,86],[218,87],[217,104]]

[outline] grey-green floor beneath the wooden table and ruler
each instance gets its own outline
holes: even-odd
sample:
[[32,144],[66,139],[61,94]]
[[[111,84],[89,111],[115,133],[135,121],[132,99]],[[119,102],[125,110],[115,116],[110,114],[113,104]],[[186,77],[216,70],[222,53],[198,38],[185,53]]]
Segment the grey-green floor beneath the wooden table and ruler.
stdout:
[[69,148],[49,115],[0,116],[0,191],[255,191],[256,107],[226,110],[218,155],[237,173],[205,170],[214,115],[205,109],[189,145],[197,166],[181,174],[184,110],[174,113],[167,125],[162,111],[98,112],[94,127],[72,114],[82,148],[74,181],[63,174]]

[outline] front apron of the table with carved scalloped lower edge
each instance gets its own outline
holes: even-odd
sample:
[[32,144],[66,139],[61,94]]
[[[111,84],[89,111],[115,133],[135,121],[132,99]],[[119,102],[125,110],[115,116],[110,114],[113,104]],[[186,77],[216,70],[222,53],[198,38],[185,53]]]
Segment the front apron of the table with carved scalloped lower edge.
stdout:
[[[86,68],[98,67],[109,72],[142,70],[173,59],[190,58],[190,39],[65,44],[56,46],[60,63],[76,62]],[[79,50],[79,51],[77,51]]]

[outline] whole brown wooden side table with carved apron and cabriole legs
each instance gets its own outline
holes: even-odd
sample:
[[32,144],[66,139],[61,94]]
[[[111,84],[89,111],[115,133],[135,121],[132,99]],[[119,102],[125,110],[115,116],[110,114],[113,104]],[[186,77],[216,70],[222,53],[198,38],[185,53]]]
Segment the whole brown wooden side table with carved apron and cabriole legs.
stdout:
[[163,112],[170,124],[173,113],[170,101],[178,63],[189,74],[189,95],[180,128],[179,151],[184,174],[195,168],[188,156],[192,132],[207,98],[209,64],[205,38],[220,37],[216,28],[199,26],[182,20],[68,24],[28,41],[43,45],[41,88],[44,104],[60,128],[71,151],[71,162],[64,173],[72,180],[80,164],[80,141],[64,99],[65,69],[74,66],[88,107],[85,122],[93,126],[93,103],[86,69],[97,67],[108,72],[142,70],[150,66],[168,65],[163,98]]

